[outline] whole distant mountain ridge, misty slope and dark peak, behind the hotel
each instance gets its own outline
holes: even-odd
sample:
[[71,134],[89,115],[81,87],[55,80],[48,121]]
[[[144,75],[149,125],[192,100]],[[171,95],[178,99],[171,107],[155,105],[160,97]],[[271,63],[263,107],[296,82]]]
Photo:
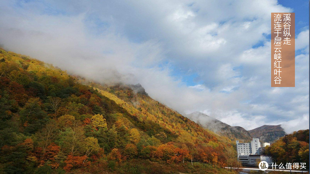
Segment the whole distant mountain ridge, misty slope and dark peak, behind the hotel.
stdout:
[[273,143],[285,135],[281,125],[263,125],[247,131],[240,126],[230,126],[201,112],[193,112],[187,114],[186,117],[219,135],[241,142],[249,142],[252,138],[259,138],[261,142]]

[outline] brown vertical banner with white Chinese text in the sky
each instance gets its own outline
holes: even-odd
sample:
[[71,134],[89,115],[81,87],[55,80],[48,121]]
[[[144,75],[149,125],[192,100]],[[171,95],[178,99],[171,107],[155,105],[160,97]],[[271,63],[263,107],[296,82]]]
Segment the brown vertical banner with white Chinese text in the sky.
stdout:
[[295,87],[295,13],[271,13],[271,87]]

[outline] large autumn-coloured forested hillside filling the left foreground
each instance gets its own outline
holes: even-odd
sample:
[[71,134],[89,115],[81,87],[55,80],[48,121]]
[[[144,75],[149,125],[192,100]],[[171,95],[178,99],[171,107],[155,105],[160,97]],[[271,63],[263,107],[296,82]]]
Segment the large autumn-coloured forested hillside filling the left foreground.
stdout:
[[232,144],[139,85],[100,85],[0,49],[1,173],[228,173]]

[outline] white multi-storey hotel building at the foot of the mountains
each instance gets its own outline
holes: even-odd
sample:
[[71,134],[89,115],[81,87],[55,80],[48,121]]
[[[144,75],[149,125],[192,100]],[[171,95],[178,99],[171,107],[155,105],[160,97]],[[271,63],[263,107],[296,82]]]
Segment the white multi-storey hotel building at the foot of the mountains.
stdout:
[[236,141],[238,161],[245,165],[257,165],[260,161],[266,161],[268,164],[272,164],[272,157],[261,154],[264,152],[265,146],[269,143],[263,143],[263,147],[260,146],[258,138],[253,138],[250,143],[239,143]]

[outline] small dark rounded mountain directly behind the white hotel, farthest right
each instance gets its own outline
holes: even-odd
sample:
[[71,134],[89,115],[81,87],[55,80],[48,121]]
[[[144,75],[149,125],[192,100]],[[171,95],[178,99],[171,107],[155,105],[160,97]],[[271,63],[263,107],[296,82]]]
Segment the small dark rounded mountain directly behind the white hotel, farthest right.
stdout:
[[280,137],[284,137],[284,129],[279,125],[263,125],[261,127],[249,130],[252,137],[259,138],[262,142],[273,143]]

